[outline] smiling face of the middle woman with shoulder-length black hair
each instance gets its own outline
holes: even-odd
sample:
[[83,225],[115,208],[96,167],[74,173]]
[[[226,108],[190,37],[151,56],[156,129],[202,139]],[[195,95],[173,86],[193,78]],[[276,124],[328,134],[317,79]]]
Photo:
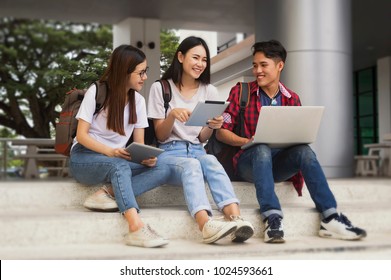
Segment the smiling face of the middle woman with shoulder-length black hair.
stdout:
[[198,79],[207,66],[207,54],[202,45],[189,49],[185,54],[178,53],[178,60],[182,63],[183,75]]

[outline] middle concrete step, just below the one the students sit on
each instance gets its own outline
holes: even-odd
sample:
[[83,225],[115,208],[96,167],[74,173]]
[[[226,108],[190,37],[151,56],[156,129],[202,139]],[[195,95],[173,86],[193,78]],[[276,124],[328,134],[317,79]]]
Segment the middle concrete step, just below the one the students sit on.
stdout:
[[[391,233],[391,207],[387,203],[342,204],[354,225],[365,228],[368,234]],[[284,232],[287,239],[316,236],[319,214],[309,205],[283,205]],[[242,216],[255,227],[255,237],[263,237],[264,225],[256,205],[241,208]],[[215,216],[220,213],[214,211]],[[201,241],[195,221],[183,206],[147,208],[141,218],[162,236],[169,239]],[[128,226],[119,213],[90,212],[84,208],[51,209],[48,211],[14,211],[0,214],[0,246],[56,245],[121,242]]]

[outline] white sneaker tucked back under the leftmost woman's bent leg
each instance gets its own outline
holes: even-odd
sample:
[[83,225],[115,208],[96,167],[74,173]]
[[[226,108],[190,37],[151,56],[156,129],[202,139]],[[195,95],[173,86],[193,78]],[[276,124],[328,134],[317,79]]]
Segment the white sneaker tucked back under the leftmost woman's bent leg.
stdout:
[[102,187],[103,193],[94,193],[87,197],[83,206],[92,211],[117,212],[118,205],[115,198],[109,193],[106,186]]

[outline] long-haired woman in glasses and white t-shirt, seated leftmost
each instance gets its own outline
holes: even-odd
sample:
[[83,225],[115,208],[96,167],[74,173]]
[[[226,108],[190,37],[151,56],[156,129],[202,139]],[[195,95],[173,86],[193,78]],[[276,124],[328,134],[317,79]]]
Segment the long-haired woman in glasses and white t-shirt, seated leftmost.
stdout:
[[156,158],[146,159],[142,164],[133,163],[125,150],[131,135],[135,142],[144,143],[144,128],[148,121],[145,100],[138,91],[147,79],[147,70],[147,60],[141,50],[121,45],[113,51],[100,79],[107,85],[103,108],[94,114],[96,87],[91,86],[76,116],[79,122],[70,155],[70,170],[81,183],[112,186],[88,197],[84,206],[91,210],[108,210],[105,204],[118,205],[129,225],[125,237],[127,245],[159,247],[168,240],[141,220],[133,188],[161,185],[169,176],[168,167],[157,165]]

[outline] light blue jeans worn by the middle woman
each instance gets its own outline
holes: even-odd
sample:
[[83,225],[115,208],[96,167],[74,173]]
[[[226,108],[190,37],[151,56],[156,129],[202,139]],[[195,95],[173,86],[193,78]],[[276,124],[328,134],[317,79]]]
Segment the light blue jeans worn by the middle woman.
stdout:
[[239,204],[224,168],[216,157],[205,152],[202,144],[172,141],[161,144],[159,148],[165,150],[158,157],[159,163],[171,168],[168,183],[183,186],[186,204],[192,217],[200,210],[212,214],[205,181],[219,210],[232,203]]

